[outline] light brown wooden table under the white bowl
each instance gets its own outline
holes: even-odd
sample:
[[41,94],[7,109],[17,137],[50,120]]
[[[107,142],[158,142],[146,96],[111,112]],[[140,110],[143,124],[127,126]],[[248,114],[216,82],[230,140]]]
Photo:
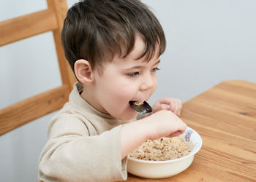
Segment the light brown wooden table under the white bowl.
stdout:
[[256,181],[255,83],[217,84],[184,103],[181,119],[203,139],[192,165],[170,178],[127,181]]

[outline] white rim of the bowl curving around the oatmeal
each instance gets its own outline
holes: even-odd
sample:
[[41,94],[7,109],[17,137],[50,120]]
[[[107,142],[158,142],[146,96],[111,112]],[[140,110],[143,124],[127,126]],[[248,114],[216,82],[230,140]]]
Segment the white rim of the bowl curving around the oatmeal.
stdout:
[[[193,155],[197,154],[197,152],[201,149],[201,147],[203,145],[203,141],[202,141],[201,136],[195,130],[193,130],[191,127],[187,127],[187,130],[192,130],[193,132],[195,132],[195,134],[198,135],[198,139],[199,139],[199,141],[196,143],[197,145],[195,146],[195,148],[193,148],[192,151],[187,156],[180,157],[180,158],[177,158],[177,159],[163,160],[163,161],[142,160],[142,159],[135,159],[135,158],[132,158],[132,157],[127,157],[127,158],[129,160],[133,160],[135,162],[161,164],[161,163],[177,162],[177,161],[192,157]],[[187,132],[187,130],[186,130],[186,132]]]

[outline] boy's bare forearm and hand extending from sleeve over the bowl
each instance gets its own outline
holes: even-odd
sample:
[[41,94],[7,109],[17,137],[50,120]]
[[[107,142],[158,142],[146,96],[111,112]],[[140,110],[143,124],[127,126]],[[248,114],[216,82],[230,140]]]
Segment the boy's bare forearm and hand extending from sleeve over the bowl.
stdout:
[[121,128],[121,158],[126,157],[146,140],[178,136],[185,132],[186,128],[187,124],[176,114],[166,110],[124,124]]

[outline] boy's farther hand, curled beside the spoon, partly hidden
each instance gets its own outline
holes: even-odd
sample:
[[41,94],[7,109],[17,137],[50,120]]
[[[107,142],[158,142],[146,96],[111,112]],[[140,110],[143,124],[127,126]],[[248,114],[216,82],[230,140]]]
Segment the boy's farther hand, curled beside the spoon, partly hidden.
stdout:
[[181,116],[182,103],[181,100],[176,98],[160,98],[156,103],[154,103],[152,108],[154,112],[169,110],[177,116]]

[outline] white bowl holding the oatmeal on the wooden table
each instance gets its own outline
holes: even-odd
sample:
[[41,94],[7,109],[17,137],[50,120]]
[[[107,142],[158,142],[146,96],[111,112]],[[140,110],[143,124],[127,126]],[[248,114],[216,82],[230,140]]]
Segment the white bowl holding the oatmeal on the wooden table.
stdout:
[[192,151],[187,156],[165,161],[146,161],[128,157],[128,173],[143,178],[167,178],[186,170],[192,164],[194,155],[202,146],[202,138],[190,127],[187,127],[186,132],[180,136],[185,138],[188,132],[191,134],[189,143],[192,145]]

